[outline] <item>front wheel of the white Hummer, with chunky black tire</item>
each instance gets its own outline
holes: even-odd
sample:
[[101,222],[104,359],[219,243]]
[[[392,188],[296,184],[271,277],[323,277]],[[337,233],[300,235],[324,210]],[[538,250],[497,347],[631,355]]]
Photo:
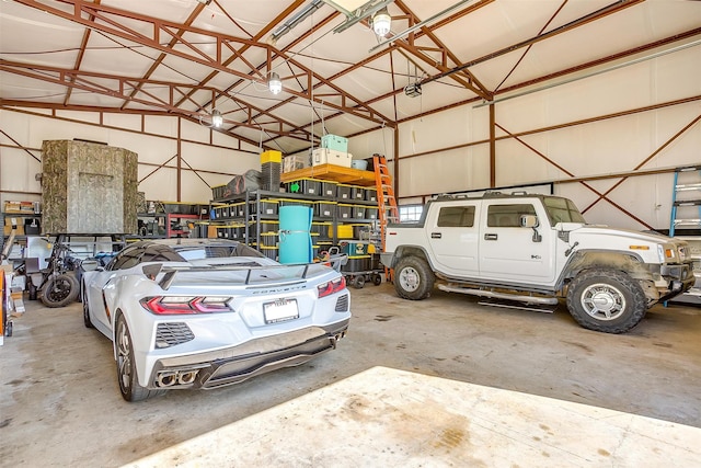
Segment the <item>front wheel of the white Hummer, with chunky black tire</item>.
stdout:
[[625,333],[645,317],[647,299],[640,284],[625,273],[593,269],[570,284],[567,309],[588,330]]

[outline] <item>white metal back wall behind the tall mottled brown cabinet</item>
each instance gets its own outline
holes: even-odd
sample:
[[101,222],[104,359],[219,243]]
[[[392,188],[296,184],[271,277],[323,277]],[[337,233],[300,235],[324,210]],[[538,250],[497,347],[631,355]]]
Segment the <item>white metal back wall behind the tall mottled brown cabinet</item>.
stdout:
[[[42,172],[42,165],[36,160],[41,160],[42,141],[73,138],[102,141],[137,152],[141,181],[138,190],[146,193],[147,199],[177,199],[177,117],[146,115],[141,130],[140,115],[103,114],[101,126],[99,113],[57,112],[60,118],[51,118],[47,111],[26,111],[46,116],[0,111],[0,129],[7,134],[0,133],[0,144],[3,145],[0,147],[2,203],[7,199],[41,199],[39,195],[23,193],[38,194],[42,191],[39,182],[35,180],[35,174]],[[188,121],[180,121],[180,125],[182,202],[207,203],[211,198],[210,186],[225,184],[233,174],[241,174],[249,169],[260,169],[257,148],[241,144],[243,150],[238,150],[234,148],[239,148],[239,141],[231,137]],[[209,145],[210,137],[216,146]],[[22,147],[34,148],[30,152],[36,159],[16,148],[15,141]]]

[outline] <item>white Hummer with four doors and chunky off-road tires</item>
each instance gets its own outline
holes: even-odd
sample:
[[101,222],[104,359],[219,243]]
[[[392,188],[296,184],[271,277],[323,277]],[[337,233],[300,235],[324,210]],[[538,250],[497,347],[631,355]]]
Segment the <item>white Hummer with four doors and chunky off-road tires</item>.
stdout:
[[694,283],[687,242],[587,225],[567,198],[439,196],[416,224],[390,224],[382,263],[405,299],[443,290],[555,305],[584,328],[623,333]]

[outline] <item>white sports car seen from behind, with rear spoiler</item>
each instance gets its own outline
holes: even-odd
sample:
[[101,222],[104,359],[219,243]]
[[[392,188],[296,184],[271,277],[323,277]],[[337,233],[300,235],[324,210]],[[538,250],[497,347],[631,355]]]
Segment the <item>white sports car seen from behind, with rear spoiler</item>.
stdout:
[[303,364],[335,349],[350,320],[334,269],[280,265],[229,240],[136,242],[81,285],[85,327],[113,341],[127,401]]

